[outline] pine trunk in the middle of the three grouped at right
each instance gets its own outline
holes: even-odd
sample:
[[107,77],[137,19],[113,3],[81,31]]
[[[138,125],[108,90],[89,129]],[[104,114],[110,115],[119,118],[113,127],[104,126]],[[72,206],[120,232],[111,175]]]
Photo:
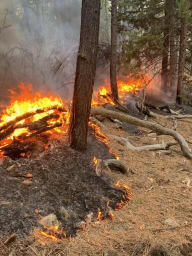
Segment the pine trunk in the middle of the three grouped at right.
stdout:
[[169,16],[169,44],[170,44],[170,91],[176,91],[176,76],[177,76],[177,58],[176,58],[176,45],[175,45],[175,0],[170,0],[170,16]]

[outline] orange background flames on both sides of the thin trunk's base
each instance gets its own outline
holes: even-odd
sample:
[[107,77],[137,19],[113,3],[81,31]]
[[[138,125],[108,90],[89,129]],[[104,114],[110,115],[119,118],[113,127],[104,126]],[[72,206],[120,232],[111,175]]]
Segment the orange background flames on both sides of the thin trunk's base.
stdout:
[[[143,90],[145,82],[148,81],[147,77],[133,79],[130,78],[126,82],[122,80],[117,80],[118,96],[121,103],[124,103],[125,100],[130,96],[136,96],[141,90]],[[110,83],[108,80],[104,80],[104,84],[99,87],[99,90],[94,90],[93,99],[91,102],[92,106],[99,106],[101,104],[109,103],[115,105],[111,98],[110,93]]]

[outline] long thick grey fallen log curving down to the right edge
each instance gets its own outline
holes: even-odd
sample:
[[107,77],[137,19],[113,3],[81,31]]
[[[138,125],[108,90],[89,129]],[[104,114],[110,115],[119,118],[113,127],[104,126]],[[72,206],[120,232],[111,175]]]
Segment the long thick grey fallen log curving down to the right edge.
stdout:
[[119,113],[112,110],[107,110],[100,107],[92,107],[90,110],[91,115],[102,115],[107,118],[115,118],[123,122],[127,122],[129,124],[145,127],[151,130],[154,130],[155,132],[158,132],[160,134],[164,135],[170,135],[172,136],[180,145],[180,148],[184,154],[184,156],[192,159],[192,153],[191,149],[189,148],[186,140],[183,138],[182,135],[180,135],[176,130],[166,128],[162,126],[161,124],[154,122],[154,121],[146,121],[146,120],[140,120],[136,117],[133,117],[128,114]]

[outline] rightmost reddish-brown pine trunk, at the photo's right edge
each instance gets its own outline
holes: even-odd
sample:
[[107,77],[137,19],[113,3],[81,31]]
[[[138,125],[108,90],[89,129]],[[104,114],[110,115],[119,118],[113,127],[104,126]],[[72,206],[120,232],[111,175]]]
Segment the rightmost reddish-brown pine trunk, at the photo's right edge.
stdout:
[[178,81],[176,89],[176,102],[181,104],[181,90],[184,74],[184,63],[186,54],[186,43],[187,43],[187,21],[186,19],[181,19],[180,28],[180,46],[179,46],[179,58],[178,58]]

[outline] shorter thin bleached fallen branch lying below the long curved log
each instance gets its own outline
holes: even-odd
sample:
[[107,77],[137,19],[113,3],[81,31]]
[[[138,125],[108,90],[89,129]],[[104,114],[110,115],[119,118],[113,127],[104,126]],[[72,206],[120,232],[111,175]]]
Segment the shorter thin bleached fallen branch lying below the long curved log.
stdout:
[[114,138],[118,143],[120,143],[123,146],[126,146],[127,148],[133,150],[133,151],[142,151],[142,150],[166,150],[170,146],[178,144],[177,141],[167,141],[167,142],[162,142],[160,144],[151,144],[151,145],[144,145],[144,146],[133,146],[127,138],[107,134],[108,137]]

